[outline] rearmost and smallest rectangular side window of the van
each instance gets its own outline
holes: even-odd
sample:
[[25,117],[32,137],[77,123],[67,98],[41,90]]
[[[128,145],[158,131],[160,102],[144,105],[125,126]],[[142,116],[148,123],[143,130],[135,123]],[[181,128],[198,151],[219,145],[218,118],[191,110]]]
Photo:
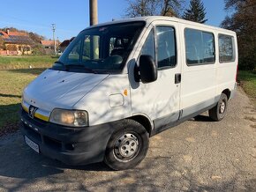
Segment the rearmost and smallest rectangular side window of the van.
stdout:
[[235,61],[234,38],[219,34],[219,60],[220,63],[228,63]]

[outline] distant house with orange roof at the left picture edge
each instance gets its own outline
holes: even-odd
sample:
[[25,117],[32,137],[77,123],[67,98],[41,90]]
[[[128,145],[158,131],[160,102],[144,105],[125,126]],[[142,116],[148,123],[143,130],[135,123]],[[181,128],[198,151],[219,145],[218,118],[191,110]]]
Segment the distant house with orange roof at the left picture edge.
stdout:
[[31,55],[31,46],[34,44],[27,33],[0,31],[4,41],[4,48],[0,49],[0,55]]

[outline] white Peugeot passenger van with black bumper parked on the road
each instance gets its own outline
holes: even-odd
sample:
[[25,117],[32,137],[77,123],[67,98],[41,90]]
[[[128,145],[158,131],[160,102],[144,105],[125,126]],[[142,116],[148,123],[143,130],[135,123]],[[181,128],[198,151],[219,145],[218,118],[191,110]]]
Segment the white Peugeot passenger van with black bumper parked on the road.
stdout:
[[183,19],[88,27],[25,88],[25,142],[70,165],[134,167],[149,137],[207,110],[223,119],[237,57],[236,33]]

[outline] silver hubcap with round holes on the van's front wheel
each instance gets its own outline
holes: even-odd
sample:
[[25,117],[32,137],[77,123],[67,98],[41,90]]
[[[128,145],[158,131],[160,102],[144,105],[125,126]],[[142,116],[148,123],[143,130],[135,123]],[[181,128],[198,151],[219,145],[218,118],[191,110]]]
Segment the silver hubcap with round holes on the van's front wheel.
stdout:
[[119,160],[132,159],[139,151],[139,140],[131,133],[125,133],[115,143],[114,153]]

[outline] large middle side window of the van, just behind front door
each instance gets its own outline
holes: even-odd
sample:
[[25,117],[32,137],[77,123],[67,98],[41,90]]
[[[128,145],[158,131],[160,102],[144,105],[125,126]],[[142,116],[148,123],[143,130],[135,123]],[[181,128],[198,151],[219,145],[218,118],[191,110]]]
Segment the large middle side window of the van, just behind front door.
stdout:
[[185,55],[188,66],[215,63],[215,36],[213,33],[185,29]]

